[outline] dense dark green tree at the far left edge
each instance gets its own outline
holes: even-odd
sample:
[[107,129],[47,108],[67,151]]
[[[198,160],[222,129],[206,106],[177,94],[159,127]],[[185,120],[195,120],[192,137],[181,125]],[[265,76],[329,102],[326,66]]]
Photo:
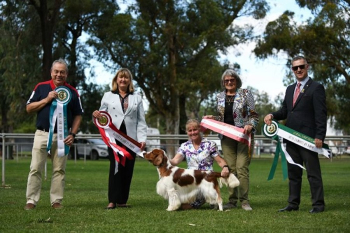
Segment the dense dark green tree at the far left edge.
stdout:
[[25,2],[4,1],[0,10],[0,128],[13,132],[20,122],[33,119],[25,112],[25,102],[40,74],[41,51],[38,30],[32,26],[36,17]]

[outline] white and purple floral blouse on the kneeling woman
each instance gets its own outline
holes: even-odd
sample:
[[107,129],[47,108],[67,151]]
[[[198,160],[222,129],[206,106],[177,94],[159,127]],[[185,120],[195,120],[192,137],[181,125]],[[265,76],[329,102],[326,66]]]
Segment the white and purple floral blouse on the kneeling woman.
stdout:
[[214,158],[220,156],[216,143],[206,138],[202,139],[198,150],[194,148],[192,141],[187,141],[181,144],[177,153],[186,158],[188,169],[207,171],[213,170]]

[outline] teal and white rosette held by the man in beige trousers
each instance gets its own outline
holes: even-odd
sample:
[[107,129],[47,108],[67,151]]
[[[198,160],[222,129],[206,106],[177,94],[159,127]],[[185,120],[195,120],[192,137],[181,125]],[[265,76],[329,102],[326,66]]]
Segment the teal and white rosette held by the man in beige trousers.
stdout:
[[60,86],[55,89],[58,93],[57,98],[54,99],[50,107],[50,130],[49,139],[47,141],[47,151],[50,153],[52,145],[52,137],[57,122],[57,150],[58,156],[63,157],[69,153],[69,146],[64,144],[64,139],[68,136],[68,122],[67,122],[67,106],[72,98],[72,94],[68,87]]

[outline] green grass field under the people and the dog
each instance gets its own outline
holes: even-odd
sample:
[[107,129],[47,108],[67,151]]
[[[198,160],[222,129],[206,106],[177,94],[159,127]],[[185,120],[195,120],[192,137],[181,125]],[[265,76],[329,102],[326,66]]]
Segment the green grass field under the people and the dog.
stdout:
[[[48,178],[41,199],[31,211],[23,209],[29,158],[6,160],[6,186],[0,188],[0,232],[349,232],[350,158],[321,158],[326,211],[309,214],[309,185],[304,173],[300,210],[278,213],[287,205],[288,181],[281,166],[267,181],[271,158],[254,158],[250,166],[250,203],[253,211],[241,208],[219,212],[204,205],[199,210],[168,212],[167,201],[156,194],[156,168],[137,159],[128,204],[132,208],[105,210],[108,161],[69,160],[66,171],[64,209],[50,207]],[[181,164],[183,167],[185,164]],[[219,168],[216,167],[217,171]],[[224,202],[227,190],[222,188]]]

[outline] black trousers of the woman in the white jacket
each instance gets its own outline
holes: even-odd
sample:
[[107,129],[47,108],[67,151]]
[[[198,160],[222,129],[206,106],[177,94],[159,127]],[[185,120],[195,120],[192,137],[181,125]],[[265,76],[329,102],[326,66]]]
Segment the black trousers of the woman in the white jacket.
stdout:
[[[129,153],[131,152],[129,151]],[[135,155],[132,155],[134,159],[126,159],[125,166],[118,163],[118,172],[114,174],[116,161],[113,150],[108,147],[108,158],[110,161],[108,181],[109,203],[126,204],[129,199],[130,185],[135,165]]]

